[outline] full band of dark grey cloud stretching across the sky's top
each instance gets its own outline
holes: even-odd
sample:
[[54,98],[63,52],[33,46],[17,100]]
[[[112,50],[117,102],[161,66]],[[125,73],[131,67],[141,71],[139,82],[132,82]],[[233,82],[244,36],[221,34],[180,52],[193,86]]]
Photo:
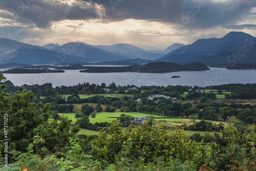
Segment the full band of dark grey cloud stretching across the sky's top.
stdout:
[[[28,2],[24,12],[21,2]],[[182,24],[185,28],[205,29],[221,25],[234,25],[243,16],[251,15],[250,9],[256,7],[255,0],[229,0],[225,2],[204,0],[77,0],[73,4],[66,1],[1,0],[0,9],[14,13],[18,22],[32,22],[38,28],[47,28],[53,21],[63,19],[100,18],[99,9],[104,7],[107,20],[147,19],[167,23]],[[19,11],[20,10],[20,11]],[[16,13],[15,13],[16,12]]]

